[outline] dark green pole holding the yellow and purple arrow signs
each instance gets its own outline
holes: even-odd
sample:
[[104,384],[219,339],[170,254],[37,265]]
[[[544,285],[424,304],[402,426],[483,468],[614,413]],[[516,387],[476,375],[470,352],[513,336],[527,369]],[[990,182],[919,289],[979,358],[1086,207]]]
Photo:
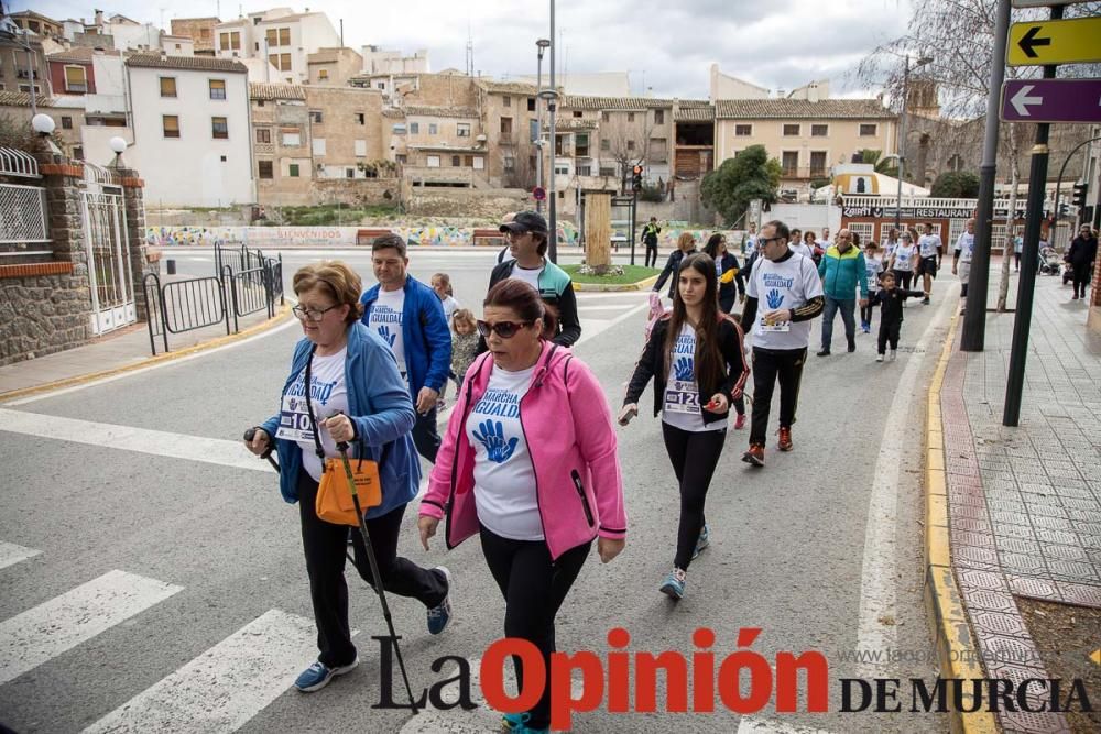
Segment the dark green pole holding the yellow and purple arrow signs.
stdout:
[[[1051,8],[1051,20],[1062,18],[1062,6]],[[1012,54],[1012,50],[1010,51]],[[1055,78],[1056,67],[1045,66],[1044,78]],[[1033,146],[1032,169],[1028,174],[1028,206],[1025,209],[1025,241],[1021,259],[1025,267],[1017,281],[1017,309],[1013,318],[1013,343],[1010,347],[1010,373],[1005,382],[1003,426],[1021,424],[1021,394],[1025,385],[1025,361],[1028,357],[1028,329],[1032,325],[1033,296],[1036,289],[1036,262],[1039,259],[1039,229],[1044,217],[1046,196],[1048,128],[1046,122],[1036,125],[1036,144]],[[1002,252],[1003,258],[1009,253]],[[986,304],[979,306],[985,310]],[[971,308],[968,308],[970,311]]]

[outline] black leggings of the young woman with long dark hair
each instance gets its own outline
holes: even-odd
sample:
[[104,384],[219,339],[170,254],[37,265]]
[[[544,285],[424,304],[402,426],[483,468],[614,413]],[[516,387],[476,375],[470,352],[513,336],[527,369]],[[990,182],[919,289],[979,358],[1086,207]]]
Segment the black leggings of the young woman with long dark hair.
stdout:
[[680,485],[680,524],[677,526],[677,555],[673,565],[688,570],[699,532],[704,529],[704,502],[722,454],[727,431],[683,430],[663,420],[662,435]]

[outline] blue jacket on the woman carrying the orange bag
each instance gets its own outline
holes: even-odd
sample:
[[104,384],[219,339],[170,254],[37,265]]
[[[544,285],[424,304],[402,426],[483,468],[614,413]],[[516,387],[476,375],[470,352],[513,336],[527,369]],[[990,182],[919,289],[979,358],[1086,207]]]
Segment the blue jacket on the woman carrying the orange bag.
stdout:
[[[283,385],[280,405],[282,395],[306,369],[313,346],[308,339],[295,346],[291,375]],[[416,423],[416,413],[408,387],[397,371],[394,353],[382,337],[359,322],[348,328],[345,383],[348,414],[356,425],[357,456],[379,462],[382,504],[367,513],[368,517],[378,517],[415,497],[421,485],[421,460],[410,434]],[[262,428],[269,436],[275,436],[279,421],[280,416],[275,414]],[[275,450],[280,463],[280,492],[287,502],[297,502],[303,449],[294,441],[277,438]]]

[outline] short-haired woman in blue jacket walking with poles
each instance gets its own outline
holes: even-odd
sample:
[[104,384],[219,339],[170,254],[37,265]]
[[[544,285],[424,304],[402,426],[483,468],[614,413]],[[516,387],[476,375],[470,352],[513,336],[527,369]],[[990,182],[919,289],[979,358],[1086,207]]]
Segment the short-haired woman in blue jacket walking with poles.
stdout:
[[[379,464],[382,504],[367,512],[367,527],[386,591],[413,596],[428,607],[428,632],[438,634],[450,618],[450,573],[424,569],[397,556],[405,505],[416,496],[421,464],[410,429],[416,420],[408,385],[382,338],[360,322],[362,282],[341,262],[307,265],[294,274],[298,305],[294,315],[305,338],[294,349],[283,385],[280,413],[257,426],[249,450],[263,454],[275,440],[280,491],[298,503],[309,595],[317,623],[317,661],[295,680],[303,692],[324,688],[359,665],[348,626],[345,582],[347,525],[317,516],[317,486],[326,458],[349,454]],[[309,401],[306,383],[309,383]],[[371,583],[363,538],[352,533],[356,568]]]

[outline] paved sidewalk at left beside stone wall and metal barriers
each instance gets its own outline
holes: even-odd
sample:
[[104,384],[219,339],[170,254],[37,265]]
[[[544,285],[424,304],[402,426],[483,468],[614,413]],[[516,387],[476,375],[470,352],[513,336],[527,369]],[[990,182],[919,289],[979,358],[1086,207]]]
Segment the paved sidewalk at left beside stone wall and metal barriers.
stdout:
[[166,355],[162,354],[164,341],[161,337],[156,337],[155,358],[150,349],[149,327],[142,321],[94,339],[84,347],[0,366],[0,401],[19,397],[26,391],[89,380],[101,373],[135,370],[153,362],[173,359],[174,355],[190,353],[196,349],[215,347],[227,340],[243,339],[265,326],[274,326],[288,318],[288,314],[290,304],[285,308],[277,309],[275,318],[270,324],[264,310],[241,317],[238,319],[240,331],[228,337],[225,321],[195,331],[170,333],[171,351]]

